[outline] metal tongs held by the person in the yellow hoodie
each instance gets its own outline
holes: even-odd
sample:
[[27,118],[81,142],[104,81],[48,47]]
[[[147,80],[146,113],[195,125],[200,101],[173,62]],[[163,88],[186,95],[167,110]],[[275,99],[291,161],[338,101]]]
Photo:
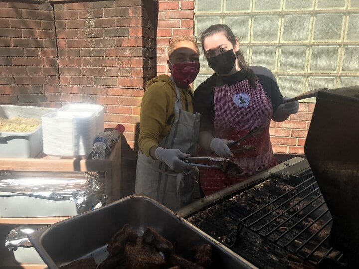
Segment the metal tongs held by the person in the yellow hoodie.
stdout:
[[187,157],[181,160],[193,166],[216,168],[225,174],[229,171],[234,171],[237,174],[243,173],[243,169],[238,164],[227,158],[203,156]]

